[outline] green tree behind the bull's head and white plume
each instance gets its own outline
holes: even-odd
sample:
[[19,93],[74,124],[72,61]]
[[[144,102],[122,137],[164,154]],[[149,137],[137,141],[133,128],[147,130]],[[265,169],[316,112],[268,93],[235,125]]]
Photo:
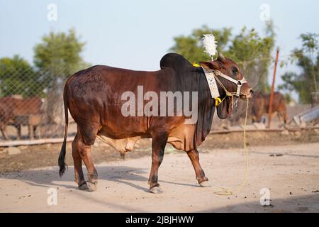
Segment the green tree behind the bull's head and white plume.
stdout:
[[231,28],[211,29],[207,26],[194,29],[191,35],[177,36],[174,46],[170,49],[177,52],[190,62],[209,60],[203,52],[203,47],[198,42],[201,35],[211,33],[218,40],[218,51],[235,60],[250,80],[254,90],[265,92],[269,89],[267,84],[268,68],[272,62],[272,50],[275,43],[275,33],[272,21],[266,24],[266,34],[262,38],[254,29],[242,28],[238,35],[233,37]]

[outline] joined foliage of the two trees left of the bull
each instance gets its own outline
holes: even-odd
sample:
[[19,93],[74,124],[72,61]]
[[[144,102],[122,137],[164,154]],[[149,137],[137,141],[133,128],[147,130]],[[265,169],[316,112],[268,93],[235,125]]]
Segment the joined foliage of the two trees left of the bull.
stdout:
[[0,96],[59,94],[70,74],[89,65],[82,59],[85,43],[74,30],[44,35],[34,48],[34,67],[22,57],[0,59]]

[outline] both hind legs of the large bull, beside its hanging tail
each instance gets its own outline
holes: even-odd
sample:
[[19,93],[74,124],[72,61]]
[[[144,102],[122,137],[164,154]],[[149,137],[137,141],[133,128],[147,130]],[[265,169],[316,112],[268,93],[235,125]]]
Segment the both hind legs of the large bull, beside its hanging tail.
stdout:
[[[79,189],[89,189],[89,191],[92,192],[96,190],[98,174],[91,158],[91,145],[94,144],[96,134],[91,133],[90,135],[92,136],[86,136],[84,139],[84,136],[78,130],[77,137],[73,141],[74,145],[72,145],[74,146],[74,155],[76,157],[76,160],[74,160],[74,167],[77,165],[77,170],[79,170],[77,171],[77,174],[79,175],[79,181],[81,182],[84,179],[84,177],[81,178],[83,172],[79,157],[84,161],[88,176],[88,181],[86,184],[82,183],[82,185],[79,185]],[[79,154],[79,157],[77,156],[77,153]]]

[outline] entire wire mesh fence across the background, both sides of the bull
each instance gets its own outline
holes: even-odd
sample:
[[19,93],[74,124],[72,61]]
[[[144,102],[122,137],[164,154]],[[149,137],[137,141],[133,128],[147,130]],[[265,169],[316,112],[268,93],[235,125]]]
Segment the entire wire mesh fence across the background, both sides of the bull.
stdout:
[[[261,89],[261,75],[264,73],[264,60],[241,62],[245,77],[254,90]],[[267,64],[265,64],[265,67]],[[268,66],[269,68],[272,65]],[[246,71],[245,71],[246,70]],[[65,114],[62,101],[62,90],[69,74],[65,70],[54,68],[35,72],[32,68],[0,67],[0,140],[33,140],[38,138],[62,138],[65,126]],[[313,100],[318,104],[319,94],[313,93]],[[264,100],[267,100],[267,96]],[[265,101],[257,101],[267,112]],[[274,106],[278,106],[278,98]],[[267,102],[267,101],[266,101]],[[250,102],[250,116],[254,103]],[[310,105],[305,107],[310,108]],[[304,110],[305,108],[301,109]],[[289,111],[288,111],[289,112]],[[293,112],[293,111],[292,111]],[[293,114],[296,114],[293,112]],[[265,115],[262,121],[265,119]],[[245,101],[239,101],[233,114],[226,121],[214,118],[213,129],[236,126],[242,123],[245,116]],[[69,135],[76,133],[76,124],[69,115]],[[252,122],[252,118],[250,118]]]

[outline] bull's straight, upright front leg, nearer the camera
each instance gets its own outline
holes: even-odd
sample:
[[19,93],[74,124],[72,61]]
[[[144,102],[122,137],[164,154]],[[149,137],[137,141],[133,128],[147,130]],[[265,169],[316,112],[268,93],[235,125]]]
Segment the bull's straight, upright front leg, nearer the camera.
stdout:
[[148,183],[150,184],[150,192],[159,194],[162,189],[159,188],[158,169],[164,158],[164,150],[167,143],[167,133],[153,133],[152,135],[152,167]]

